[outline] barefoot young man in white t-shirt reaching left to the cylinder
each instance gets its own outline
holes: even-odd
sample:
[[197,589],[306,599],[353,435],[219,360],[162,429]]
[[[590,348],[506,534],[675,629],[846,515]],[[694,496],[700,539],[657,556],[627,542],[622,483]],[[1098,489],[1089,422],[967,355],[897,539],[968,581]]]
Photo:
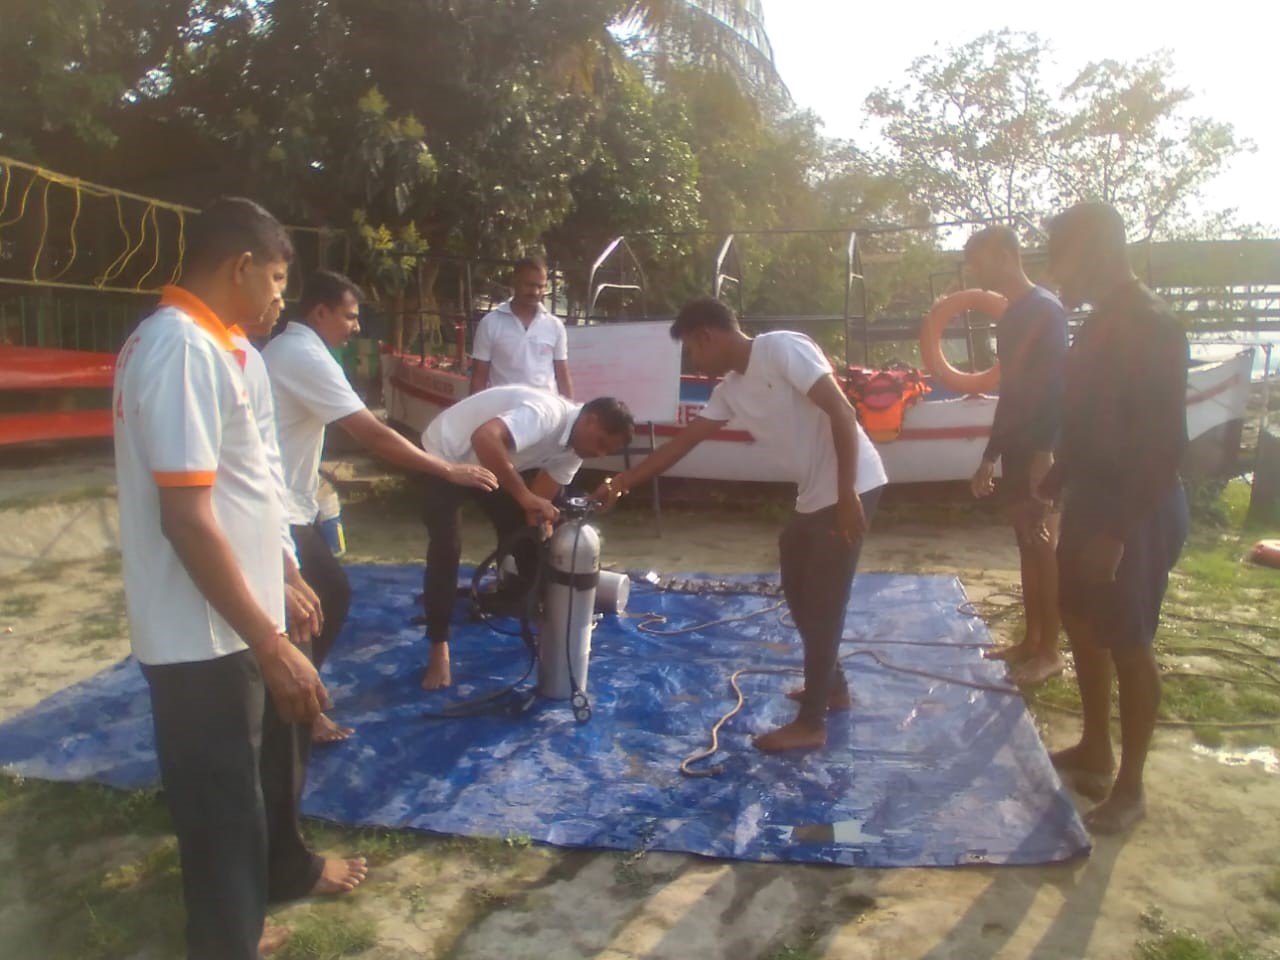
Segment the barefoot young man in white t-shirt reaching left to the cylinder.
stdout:
[[762,453],[790,468],[796,512],[778,552],[782,590],[804,644],[805,682],[788,694],[800,703],[796,719],[755,745],[765,751],[823,746],[828,710],[851,705],[840,640],[863,535],[887,483],[884,467],[827,357],[804,334],[778,330],[751,339],[732,310],[707,297],[685,305],[671,335],[699,372],[723,380],[689,426],[594,495],[612,506],[726,424],[749,430]]

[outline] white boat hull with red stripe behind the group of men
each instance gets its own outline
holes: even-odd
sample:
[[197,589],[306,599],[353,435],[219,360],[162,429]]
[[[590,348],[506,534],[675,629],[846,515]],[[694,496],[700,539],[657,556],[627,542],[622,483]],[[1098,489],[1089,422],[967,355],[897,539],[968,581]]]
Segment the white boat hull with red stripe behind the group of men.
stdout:
[[[1187,433],[1192,440],[1244,417],[1252,365],[1252,351],[1243,351],[1229,360],[1192,367],[1187,387]],[[422,367],[412,357],[383,355],[383,388],[388,419],[420,435],[442,410],[467,396],[468,381],[457,372]],[[689,399],[681,403],[676,422],[655,424],[657,445],[701,407],[701,402]],[[995,413],[995,397],[916,403],[906,411],[899,439],[877,444],[890,483],[968,480],[986,449]],[[644,429],[636,445],[648,447]],[[621,470],[622,457],[589,461],[588,466]],[[672,467],[668,476],[787,481],[783,467],[762,456],[751,435],[741,430],[722,430]]]

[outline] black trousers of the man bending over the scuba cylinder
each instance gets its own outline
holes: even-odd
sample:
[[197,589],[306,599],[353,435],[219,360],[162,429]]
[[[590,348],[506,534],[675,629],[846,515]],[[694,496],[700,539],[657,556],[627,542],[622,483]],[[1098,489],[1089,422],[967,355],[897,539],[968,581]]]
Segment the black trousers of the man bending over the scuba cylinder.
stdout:
[[[431,643],[449,639],[449,621],[458,596],[458,564],[462,562],[462,504],[474,500],[484,511],[503,543],[529,524],[525,511],[506,490],[484,493],[429,476],[424,480],[422,522],[426,524],[426,568],[422,571],[422,614]],[[538,548],[522,541],[515,550],[521,577],[531,577]]]

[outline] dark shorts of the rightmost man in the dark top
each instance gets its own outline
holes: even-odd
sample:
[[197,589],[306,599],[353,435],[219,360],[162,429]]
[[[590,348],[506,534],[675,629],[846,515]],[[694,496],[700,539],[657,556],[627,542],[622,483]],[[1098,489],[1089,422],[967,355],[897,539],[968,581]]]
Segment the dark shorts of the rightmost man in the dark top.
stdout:
[[1149,646],[1189,522],[1187,494],[1178,484],[1125,539],[1115,582],[1092,584],[1080,579],[1078,557],[1100,530],[1098,509],[1087,493],[1069,490],[1057,544],[1059,608],[1068,626],[1085,623],[1107,649]]

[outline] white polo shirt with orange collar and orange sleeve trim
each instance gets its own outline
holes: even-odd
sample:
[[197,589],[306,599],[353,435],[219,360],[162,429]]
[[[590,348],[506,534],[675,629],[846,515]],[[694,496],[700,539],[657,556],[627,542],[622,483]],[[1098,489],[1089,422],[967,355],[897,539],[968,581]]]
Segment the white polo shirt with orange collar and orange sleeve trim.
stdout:
[[214,516],[253,599],[284,628],[280,504],[236,349],[214,312],[166,287],[115,366],[115,472],[133,655],[210,660],[247,649],[160,529],[161,486],[212,486]]

